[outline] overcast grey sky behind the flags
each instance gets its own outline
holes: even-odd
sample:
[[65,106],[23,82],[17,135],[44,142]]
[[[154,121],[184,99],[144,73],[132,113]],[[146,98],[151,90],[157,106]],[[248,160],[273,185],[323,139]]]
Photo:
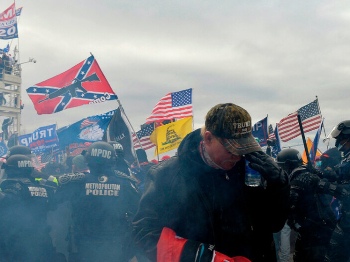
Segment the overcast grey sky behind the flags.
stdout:
[[[0,9],[11,3],[2,0]],[[326,132],[350,118],[349,1],[17,0],[20,6],[19,45],[14,39],[10,53],[17,44],[20,62],[37,60],[22,65],[26,133],[117,107],[109,101],[37,115],[25,91],[90,52],[135,131],[162,96],[187,88],[194,127],[222,102],[247,109],[253,123],[268,114],[275,126],[316,95]]]

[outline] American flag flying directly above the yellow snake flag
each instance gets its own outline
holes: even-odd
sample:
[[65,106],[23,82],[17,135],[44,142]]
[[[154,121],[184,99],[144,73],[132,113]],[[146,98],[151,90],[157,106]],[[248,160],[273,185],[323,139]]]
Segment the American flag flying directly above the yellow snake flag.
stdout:
[[168,93],[153,108],[146,123],[159,122],[166,119],[181,119],[193,115],[192,89]]

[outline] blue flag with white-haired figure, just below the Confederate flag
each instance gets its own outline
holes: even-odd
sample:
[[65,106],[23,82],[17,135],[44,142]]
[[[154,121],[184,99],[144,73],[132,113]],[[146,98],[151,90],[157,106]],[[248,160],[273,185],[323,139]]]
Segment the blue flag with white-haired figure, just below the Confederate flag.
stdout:
[[65,150],[68,146],[74,157],[82,153],[93,142],[101,141],[115,111],[88,116],[74,124],[58,129],[60,150]]

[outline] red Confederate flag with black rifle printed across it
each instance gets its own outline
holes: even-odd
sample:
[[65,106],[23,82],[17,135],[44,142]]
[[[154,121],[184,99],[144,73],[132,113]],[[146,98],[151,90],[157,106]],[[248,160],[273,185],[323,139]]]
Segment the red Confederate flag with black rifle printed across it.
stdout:
[[26,91],[39,115],[118,98],[93,56]]

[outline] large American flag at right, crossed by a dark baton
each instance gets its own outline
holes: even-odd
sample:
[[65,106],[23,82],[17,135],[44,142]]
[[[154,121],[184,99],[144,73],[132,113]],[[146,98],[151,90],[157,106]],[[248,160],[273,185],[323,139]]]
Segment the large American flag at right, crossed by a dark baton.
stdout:
[[283,142],[287,142],[294,137],[301,135],[298,114],[300,115],[304,133],[319,128],[321,124],[321,114],[318,109],[317,100],[299,108],[294,113],[284,117],[278,124],[278,131]]

